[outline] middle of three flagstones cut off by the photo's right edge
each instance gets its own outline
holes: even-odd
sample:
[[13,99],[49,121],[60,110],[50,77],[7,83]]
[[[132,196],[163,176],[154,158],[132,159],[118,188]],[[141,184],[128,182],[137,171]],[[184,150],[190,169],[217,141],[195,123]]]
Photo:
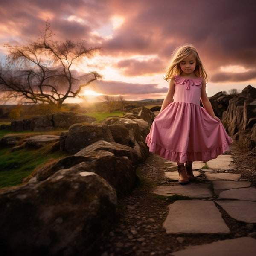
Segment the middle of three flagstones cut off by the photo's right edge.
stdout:
[[256,202],[241,200],[217,200],[231,218],[245,223],[256,223]]

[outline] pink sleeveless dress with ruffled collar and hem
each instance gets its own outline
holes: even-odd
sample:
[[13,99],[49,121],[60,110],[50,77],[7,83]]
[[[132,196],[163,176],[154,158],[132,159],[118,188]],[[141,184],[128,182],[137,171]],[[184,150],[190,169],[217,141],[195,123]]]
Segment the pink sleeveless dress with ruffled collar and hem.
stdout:
[[229,151],[231,138],[221,122],[200,106],[202,78],[175,76],[174,101],[151,125],[149,151],[167,160],[207,162]]

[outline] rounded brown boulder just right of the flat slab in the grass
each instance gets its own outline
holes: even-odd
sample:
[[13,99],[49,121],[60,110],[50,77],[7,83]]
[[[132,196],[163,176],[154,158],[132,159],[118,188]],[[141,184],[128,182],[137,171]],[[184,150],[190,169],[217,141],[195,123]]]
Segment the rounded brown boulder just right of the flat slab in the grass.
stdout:
[[[114,142],[108,125],[104,124],[75,124],[65,135],[61,136],[60,148],[70,153],[76,153],[98,140]],[[63,145],[64,143],[64,145]]]

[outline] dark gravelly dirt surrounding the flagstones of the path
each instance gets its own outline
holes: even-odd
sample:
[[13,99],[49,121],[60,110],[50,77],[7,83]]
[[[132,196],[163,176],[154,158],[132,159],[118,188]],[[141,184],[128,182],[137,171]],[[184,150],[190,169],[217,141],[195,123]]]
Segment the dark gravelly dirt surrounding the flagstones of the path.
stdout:
[[[241,174],[241,180],[248,180],[256,186],[256,155],[244,152],[236,143],[233,143],[228,154],[233,156],[237,168],[229,172]],[[151,193],[154,186],[173,183],[164,176],[166,160],[163,158],[150,154],[145,163],[139,166],[139,172],[142,184],[119,199],[116,223],[110,233],[101,239],[93,255],[171,256],[172,252],[189,245],[244,236],[256,237],[255,224],[236,221],[218,206],[222,218],[230,228],[229,234],[167,235],[162,225],[168,213],[168,205],[186,198],[166,198]],[[209,183],[204,175],[194,182]]]

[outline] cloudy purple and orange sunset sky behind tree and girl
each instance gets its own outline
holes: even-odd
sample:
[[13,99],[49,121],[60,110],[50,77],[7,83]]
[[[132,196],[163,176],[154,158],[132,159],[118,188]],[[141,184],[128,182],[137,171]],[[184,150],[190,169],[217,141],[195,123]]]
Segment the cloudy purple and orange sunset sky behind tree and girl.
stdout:
[[256,87],[256,0],[0,0],[0,57],[4,43],[38,38],[46,20],[58,41],[102,47],[91,65],[103,79],[85,91],[99,99],[164,98],[165,68],[182,44],[211,74],[208,96]]

